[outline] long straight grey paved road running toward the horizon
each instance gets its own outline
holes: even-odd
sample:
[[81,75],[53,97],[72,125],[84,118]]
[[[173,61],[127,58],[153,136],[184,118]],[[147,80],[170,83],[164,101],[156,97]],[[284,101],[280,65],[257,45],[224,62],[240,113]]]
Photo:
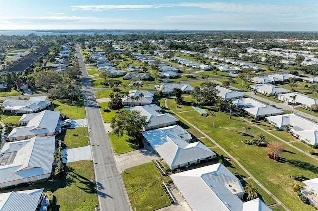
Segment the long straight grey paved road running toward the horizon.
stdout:
[[[80,52],[79,46],[76,50]],[[101,211],[129,211],[131,207],[126,190],[115,163],[94,91],[91,89],[82,54],[78,53],[78,57],[79,67],[82,70],[82,93],[85,101],[99,208]]]

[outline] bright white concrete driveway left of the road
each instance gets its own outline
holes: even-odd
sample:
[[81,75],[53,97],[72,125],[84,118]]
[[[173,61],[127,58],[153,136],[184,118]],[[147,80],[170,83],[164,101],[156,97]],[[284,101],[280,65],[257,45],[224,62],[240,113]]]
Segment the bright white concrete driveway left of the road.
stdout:
[[66,156],[67,160],[63,158],[63,163],[76,162],[80,160],[91,160],[91,150],[90,145],[85,147],[77,147],[66,150],[61,150],[61,152]]

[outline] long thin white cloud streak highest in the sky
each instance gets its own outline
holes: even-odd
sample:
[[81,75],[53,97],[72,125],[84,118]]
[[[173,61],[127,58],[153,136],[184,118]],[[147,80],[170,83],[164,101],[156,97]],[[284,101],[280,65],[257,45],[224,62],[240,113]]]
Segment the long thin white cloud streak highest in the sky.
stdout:
[[127,5],[79,5],[71,6],[72,10],[85,11],[105,11],[105,10],[142,10],[157,9],[167,7],[191,7],[212,10],[216,12],[235,12],[235,13],[294,13],[302,11],[313,11],[311,4],[302,5],[277,5],[277,4],[242,4],[227,2],[211,3],[174,3],[174,4],[127,4]]

